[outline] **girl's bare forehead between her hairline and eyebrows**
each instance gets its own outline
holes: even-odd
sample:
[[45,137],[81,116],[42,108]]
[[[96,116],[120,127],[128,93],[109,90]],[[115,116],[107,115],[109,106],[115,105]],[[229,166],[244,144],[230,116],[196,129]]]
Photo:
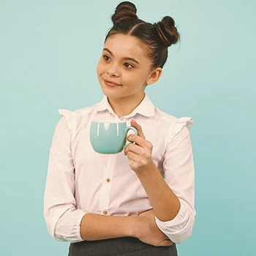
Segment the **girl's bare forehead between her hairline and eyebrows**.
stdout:
[[129,56],[136,59],[147,59],[143,43],[136,37],[127,34],[114,34],[105,42],[104,48],[108,48],[114,56]]

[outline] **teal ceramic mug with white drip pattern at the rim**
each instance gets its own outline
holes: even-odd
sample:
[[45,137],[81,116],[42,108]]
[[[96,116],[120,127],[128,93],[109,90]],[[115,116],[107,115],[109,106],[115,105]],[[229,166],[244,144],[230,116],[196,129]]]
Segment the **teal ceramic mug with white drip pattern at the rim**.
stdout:
[[125,145],[129,129],[138,135],[138,130],[135,127],[127,127],[125,121],[94,120],[90,129],[91,146],[99,154],[119,153],[132,143]]

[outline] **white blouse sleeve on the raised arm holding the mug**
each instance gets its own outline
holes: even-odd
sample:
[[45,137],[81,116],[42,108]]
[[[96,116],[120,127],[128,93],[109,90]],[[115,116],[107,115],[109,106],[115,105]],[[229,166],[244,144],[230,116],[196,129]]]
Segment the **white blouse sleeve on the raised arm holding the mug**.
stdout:
[[[186,125],[185,125],[186,124]],[[179,118],[170,131],[163,168],[165,181],[181,202],[176,217],[157,226],[171,241],[180,244],[192,234],[195,223],[195,169],[189,129],[192,118]]]

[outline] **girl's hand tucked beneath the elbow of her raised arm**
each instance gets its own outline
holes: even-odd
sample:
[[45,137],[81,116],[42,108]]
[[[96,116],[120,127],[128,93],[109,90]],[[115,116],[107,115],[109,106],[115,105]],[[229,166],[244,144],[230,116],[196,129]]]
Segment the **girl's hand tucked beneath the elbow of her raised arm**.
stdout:
[[173,244],[173,241],[170,241],[170,239],[159,230],[154,217],[153,209],[143,211],[138,215],[138,225],[136,227],[135,237],[146,244],[152,244],[154,246],[170,246]]

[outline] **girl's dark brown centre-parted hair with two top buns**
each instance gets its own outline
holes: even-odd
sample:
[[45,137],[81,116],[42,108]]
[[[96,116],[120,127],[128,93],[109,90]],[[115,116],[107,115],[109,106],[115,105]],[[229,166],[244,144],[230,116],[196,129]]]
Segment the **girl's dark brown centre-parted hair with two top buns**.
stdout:
[[163,67],[167,61],[168,47],[176,44],[180,34],[173,18],[165,16],[157,23],[140,20],[136,15],[135,4],[122,1],[112,15],[113,27],[108,31],[105,41],[114,34],[128,34],[140,39],[146,45],[146,53],[152,61],[152,68]]

